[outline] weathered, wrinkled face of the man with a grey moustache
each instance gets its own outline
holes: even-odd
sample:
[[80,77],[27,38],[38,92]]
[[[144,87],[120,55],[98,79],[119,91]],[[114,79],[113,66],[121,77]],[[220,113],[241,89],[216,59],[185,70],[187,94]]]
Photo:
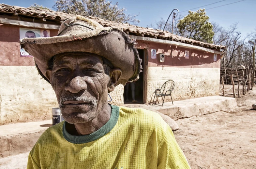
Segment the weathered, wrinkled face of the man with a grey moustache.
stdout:
[[51,85],[63,118],[68,123],[86,123],[96,117],[107,102],[110,76],[100,56],[64,55],[53,64]]

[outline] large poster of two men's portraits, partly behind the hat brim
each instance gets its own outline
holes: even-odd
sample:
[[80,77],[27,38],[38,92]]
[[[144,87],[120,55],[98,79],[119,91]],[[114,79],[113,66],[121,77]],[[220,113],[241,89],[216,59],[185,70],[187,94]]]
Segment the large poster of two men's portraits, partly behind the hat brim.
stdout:
[[[20,28],[20,39],[23,38],[39,38],[39,37],[50,37],[49,30],[29,29]],[[29,55],[24,49],[20,49],[21,57],[33,57]]]

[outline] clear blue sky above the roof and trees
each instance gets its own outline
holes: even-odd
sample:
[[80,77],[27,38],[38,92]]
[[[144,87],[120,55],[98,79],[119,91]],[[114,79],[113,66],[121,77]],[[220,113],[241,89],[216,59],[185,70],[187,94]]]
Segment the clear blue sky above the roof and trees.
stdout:
[[[16,5],[28,7],[33,3],[52,8],[54,0],[1,0],[0,3],[8,5]],[[155,23],[160,18],[167,19],[170,12],[174,8],[179,11],[185,11],[198,6],[203,6],[218,2],[220,0],[113,0],[118,2],[120,8],[125,7],[127,14],[139,14],[137,19],[140,20],[139,26],[147,27],[151,23]],[[239,0],[224,0],[222,2],[205,6],[202,8],[212,8],[221,6]],[[245,0],[227,6],[221,6],[214,9],[206,10],[206,14],[210,17],[210,21],[218,22],[224,28],[228,28],[231,24],[238,22],[238,31],[242,32],[243,36],[250,33],[256,28],[256,0]],[[195,11],[197,9],[194,9]],[[180,15],[185,15],[187,12],[182,12]]]

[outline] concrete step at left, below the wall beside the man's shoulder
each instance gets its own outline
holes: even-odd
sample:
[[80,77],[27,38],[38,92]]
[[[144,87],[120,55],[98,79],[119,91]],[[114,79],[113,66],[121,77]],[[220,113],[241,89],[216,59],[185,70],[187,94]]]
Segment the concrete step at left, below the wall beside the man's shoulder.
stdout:
[[30,151],[52,120],[0,125],[0,158]]

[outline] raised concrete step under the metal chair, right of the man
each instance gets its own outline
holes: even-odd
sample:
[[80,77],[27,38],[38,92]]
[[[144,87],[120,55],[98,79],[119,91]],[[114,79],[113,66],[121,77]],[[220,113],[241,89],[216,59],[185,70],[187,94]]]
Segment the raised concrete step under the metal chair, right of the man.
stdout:
[[[160,100],[159,98],[158,100]],[[187,100],[166,102],[163,104],[160,101],[156,105],[145,104],[125,104],[126,107],[143,108],[151,111],[158,111],[168,115],[173,120],[179,118],[187,118],[191,116],[200,116],[210,114],[221,110],[234,108],[237,106],[235,98],[223,96],[208,96],[202,98],[192,98]]]

